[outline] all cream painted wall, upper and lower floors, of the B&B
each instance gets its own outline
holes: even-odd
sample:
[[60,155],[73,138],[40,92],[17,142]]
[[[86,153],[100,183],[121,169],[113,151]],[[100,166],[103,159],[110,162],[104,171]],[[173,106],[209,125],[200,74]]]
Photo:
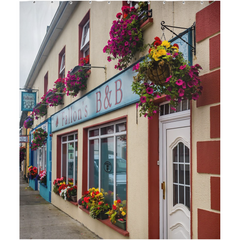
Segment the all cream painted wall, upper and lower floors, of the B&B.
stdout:
[[[161,1],[151,1],[150,8],[153,9],[153,24],[144,30],[144,42],[151,43],[155,36],[162,38],[163,31],[161,30],[161,21],[165,21],[166,25],[176,25],[180,27],[190,27],[196,21],[196,12],[209,4],[208,1],[185,1],[185,4],[179,2],[165,1],[165,4]],[[43,95],[43,81],[44,76],[48,72],[48,88],[53,87],[53,83],[58,79],[58,55],[63,47],[66,47],[66,70],[71,70],[78,64],[78,25],[87,11],[90,9],[90,63],[92,66],[106,66],[107,67],[107,79],[110,79],[119,71],[114,69],[116,61],[108,62],[107,54],[103,53],[102,49],[109,40],[109,31],[112,25],[112,21],[116,20],[116,14],[121,11],[121,1],[111,1],[111,4],[107,4],[106,1],[96,2],[92,1],[89,4],[88,1],[80,2],[71,18],[62,30],[61,35],[55,42],[48,58],[46,59],[42,69],[40,70],[33,88],[39,88],[38,101],[40,101]],[[172,29],[173,30],[173,29]],[[174,29],[176,33],[180,33],[183,30],[177,28]],[[175,37],[168,30],[164,31],[167,40]],[[163,39],[162,39],[163,40]],[[203,67],[202,74],[209,71],[208,66],[208,45],[205,41],[197,44],[197,56],[194,59],[194,63],[199,63]],[[136,58],[132,61],[135,62],[139,57],[145,55],[148,49],[144,53],[136,55]],[[103,69],[92,69],[91,75],[88,79],[88,88],[86,91],[79,93],[76,97],[64,96],[64,105],[57,107],[50,107],[48,109],[47,116],[34,121],[34,127],[40,124],[45,119],[49,118],[55,112],[61,110],[65,106],[69,105],[73,101],[79,99],[85,95],[88,91],[94,89],[98,85],[105,81],[105,73]],[[52,151],[52,179],[56,178],[56,135],[62,134],[66,131],[78,129],[79,139],[82,139],[82,128],[90,126],[92,124],[101,123],[109,119],[114,119],[123,115],[128,115],[128,231],[130,232],[130,238],[148,238],[148,125],[147,119],[139,118],[138,124],[135,119],[135,106],[129,106],[124,109],[114,111],[110,114],[101,116],[99,118],[90,120],[77,126],[73,126],[53,134],[53,151]],[[197,233],[197,208],[209,209],[209,176],[199,175],[196,170],[196,141],[199,139],[209,139],[209,119],[210,110],[208,107],[196,108],[193,103],[193,234],[196,237]],[[140,151],[141,149],[141,151]],[[81,182],[81,166],[82,166],[82,144],[79,142],[79,159],[78,159],[78,182]],[[81,184],[78,186],[78,197],[81,196]],[[86,216],[86,213],[72,204],[64,202],[59,196],[52,193],[52,203],[66,211],[70,216],[76,218],[87,226],[91,231],[95,232],[102,238],[122,238],[117,232],[113,231],[109,227],[102,223],[91,219]],[[77,211],[76,211],[77,209]],[[142,217],[145,216],[145,217]],[[94,223],[94,224],[93,224]],[[105,231],[106,229],[106,231]],[[103,231],[104,230],[104,231]]]

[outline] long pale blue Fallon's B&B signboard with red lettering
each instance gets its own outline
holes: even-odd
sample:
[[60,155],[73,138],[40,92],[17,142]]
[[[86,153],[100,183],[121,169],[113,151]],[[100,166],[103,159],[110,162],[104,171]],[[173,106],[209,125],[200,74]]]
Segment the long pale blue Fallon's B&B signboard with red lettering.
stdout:
[[132,67],[52,116],[52,132],[101,116],[139,101],[132,92]]

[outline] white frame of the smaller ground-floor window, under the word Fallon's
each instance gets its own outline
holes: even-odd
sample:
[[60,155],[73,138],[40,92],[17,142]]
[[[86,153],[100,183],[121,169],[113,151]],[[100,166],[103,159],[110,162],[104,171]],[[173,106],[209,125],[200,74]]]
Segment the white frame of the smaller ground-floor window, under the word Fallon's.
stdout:
[[[76,137],[77,135],[77,137]],[[73,140],[68,140],[68,137],[69,136],[74,136]],[[64,137],[67,137],[67,140],[66,141],[63,141],[63,138]],[[61,170],[60,170],[60,175],[61,177],[63,176],[63,144],[66,144],[67,148],[66,148],[66,184],[68,184],[68,144],[69,143],[74,143],[74,156],[76,157],[76,142],[78,144],[78,132],[72,132],[72,133],[68,133],[68,134],[64,134],[61,136]],[[78,146],[77,146],[78,147]],[[77,152],[78,152],[78,149],[77,149]],[[74,160],[75,160],[75,157],[74,157]],[[75,186],[75,182],[78,183],[78,179],[75,175],[75,172],[76,172],[76,167],[77,167],[77,175],[78,175],[78,166],[76,166],[76,161],[73,161],[73,186]],[[77,155],[77,164],[78,164],[78,155]]]

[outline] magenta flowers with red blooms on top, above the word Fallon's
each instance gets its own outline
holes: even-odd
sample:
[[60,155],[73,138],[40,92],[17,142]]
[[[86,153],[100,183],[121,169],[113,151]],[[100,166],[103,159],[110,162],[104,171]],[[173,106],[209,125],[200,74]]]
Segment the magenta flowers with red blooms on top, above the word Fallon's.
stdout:
[[67,77],[65,78],[65,88],[67,96],[77,96],[81,90],[87,89],[87,80],[90,74],[89,68],[81,68],[81,66],[87,66],[89,63],[89,56],[80,59],[79,70],[73,75],[68,71]]

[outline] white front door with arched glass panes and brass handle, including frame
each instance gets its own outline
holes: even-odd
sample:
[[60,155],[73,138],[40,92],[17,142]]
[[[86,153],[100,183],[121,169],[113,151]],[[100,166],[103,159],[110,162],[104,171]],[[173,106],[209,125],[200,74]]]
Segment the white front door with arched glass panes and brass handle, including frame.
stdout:
[[190,238],[189,113],[160,117],[160,238]]

